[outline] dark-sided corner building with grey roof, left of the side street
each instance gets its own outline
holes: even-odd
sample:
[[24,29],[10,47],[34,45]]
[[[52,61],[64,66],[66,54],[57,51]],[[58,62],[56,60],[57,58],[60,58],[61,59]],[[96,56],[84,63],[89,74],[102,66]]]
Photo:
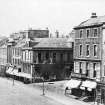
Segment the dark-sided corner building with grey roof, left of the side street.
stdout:
[[[34,44],[33,44],[34,43]],[[36,38],[22,49],[22,72],[33,78],[64,79],[73,69],[73,40]]]

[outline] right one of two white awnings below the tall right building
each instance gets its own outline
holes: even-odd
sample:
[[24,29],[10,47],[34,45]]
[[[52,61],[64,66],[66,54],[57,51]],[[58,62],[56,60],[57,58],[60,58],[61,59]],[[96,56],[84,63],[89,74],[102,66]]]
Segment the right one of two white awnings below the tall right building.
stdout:
[[88,91],[91,91],[92,89],[95,89],[97,86],[97,83],[95,81],[83,81],[80,89],[85,90],[85,87],[87,88]]

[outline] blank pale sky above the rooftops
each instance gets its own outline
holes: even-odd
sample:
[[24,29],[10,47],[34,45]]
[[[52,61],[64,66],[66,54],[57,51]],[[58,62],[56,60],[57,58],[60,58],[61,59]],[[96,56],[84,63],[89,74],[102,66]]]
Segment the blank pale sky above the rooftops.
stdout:
[[0,0],[0,35],[47,27],[66,35],[92,12],[105,15],[105,0]]

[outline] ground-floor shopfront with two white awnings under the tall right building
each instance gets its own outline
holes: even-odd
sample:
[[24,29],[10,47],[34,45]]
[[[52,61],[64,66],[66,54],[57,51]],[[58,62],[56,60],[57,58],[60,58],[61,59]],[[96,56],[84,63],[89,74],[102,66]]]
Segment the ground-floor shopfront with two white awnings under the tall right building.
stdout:
[[73,77],[71,75],[71,80],[66,85],[66,89],[70,90],[70,94],[86,101],[96,100],[96,88],[95,80],[87,79],[85,75],[76,73],[73,74]]

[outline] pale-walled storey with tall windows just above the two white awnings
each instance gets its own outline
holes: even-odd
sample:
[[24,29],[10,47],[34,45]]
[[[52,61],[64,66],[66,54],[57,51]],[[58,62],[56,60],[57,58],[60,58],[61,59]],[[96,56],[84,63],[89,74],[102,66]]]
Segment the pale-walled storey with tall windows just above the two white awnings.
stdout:
[[99,60],[75,59],[74,72],[86,74],[86,77],[100,79],[101,62]]

